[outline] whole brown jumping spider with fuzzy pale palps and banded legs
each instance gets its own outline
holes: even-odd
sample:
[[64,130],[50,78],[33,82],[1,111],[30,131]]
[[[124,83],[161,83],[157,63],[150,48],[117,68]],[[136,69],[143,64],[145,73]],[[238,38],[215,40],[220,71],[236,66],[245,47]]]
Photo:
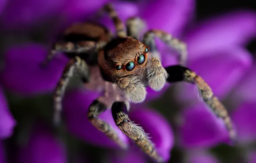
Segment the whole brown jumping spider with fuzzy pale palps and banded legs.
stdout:
[[[149,30],[143,35],[143,41],[138,39],[145,28],[145,22],[133,17],[125,25],[118,17],[111,4],[103,7],[115,24],[116,36],[106,27],[94,22],[74,23],[64,31],[44,61],[46,65],[57,52],[64,52],[70,61],[55,89],[54,121],[61,119],[61,102],[69,79],[76,72],[88,89],[103,88],[104,94],[94,100],[88,109],[88,120],[94,127],[105,133],[121,148],[128,148],[113,128],[98,116],[111,109],[116,126],[149,157],[158,163],[164,162],[158,155],[147,134],[128,118],[129,102],[142,103],[146,98],[146,86],[154,91],[160,91],[166,82],[189,82],[197,85],[205,104],[221,118],[229,137],[234,140],[236,133],[228,112],[222,103],[214,96],[211,88],[203,78],[185,66],[186,44],[162,30]],[[161,39],[169,47],[179,52],[179,65],[163,67],[160,54],[155,44],[155,37]]]

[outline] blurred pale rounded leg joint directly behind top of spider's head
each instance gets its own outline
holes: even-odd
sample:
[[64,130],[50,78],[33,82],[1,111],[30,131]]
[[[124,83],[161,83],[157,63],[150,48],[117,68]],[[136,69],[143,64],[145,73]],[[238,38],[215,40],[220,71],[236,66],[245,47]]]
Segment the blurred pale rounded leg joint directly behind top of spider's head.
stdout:
[[132,18],[128,18],[128,20],[126,21],[126,29],[127,29],[128,36],[139,39],[141,32],[145,28],[146,28],[146,23],[141,18],[132,17]]

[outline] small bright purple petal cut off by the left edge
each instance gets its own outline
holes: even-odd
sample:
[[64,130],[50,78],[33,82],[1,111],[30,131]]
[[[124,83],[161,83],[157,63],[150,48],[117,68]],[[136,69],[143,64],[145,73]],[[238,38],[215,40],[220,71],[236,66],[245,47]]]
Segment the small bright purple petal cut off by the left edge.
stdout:
[[6,103],[6,98],[3,95],[3,91],[0,88],[0,139],[8,138],[12,136],[13,128],[16,125],[16,121],[9,111]]

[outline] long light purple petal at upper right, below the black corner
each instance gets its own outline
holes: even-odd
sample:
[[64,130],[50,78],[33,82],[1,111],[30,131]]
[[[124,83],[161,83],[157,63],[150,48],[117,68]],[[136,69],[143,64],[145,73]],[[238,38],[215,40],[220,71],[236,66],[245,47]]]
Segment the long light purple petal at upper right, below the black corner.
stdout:
[[219,48],[244,45],[256,36],[256,12],[235,11],[203,21],[184,38],[189,59]]

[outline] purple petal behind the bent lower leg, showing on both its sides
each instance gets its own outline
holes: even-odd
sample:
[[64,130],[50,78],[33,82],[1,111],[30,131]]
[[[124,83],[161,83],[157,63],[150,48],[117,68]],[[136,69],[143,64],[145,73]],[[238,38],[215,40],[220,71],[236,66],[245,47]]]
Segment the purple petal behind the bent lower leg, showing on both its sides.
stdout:
[[[104,133],[97,130],[88,121],[88,107],[92,101],[97,99],[99,96],[99,93],[85,90],[75,90],[65,94],[63,106],[65,116],[64,120],[66,121],[67,129],[70,133],[89,144],[102,147],[119,148]],[[120,138],[124,142],[128,143],[128,139],[124,134],[122,134],[119,128],[116,127],[110,109],[103,112],[99,118],[108,122],[113,129],[119,133]]]

